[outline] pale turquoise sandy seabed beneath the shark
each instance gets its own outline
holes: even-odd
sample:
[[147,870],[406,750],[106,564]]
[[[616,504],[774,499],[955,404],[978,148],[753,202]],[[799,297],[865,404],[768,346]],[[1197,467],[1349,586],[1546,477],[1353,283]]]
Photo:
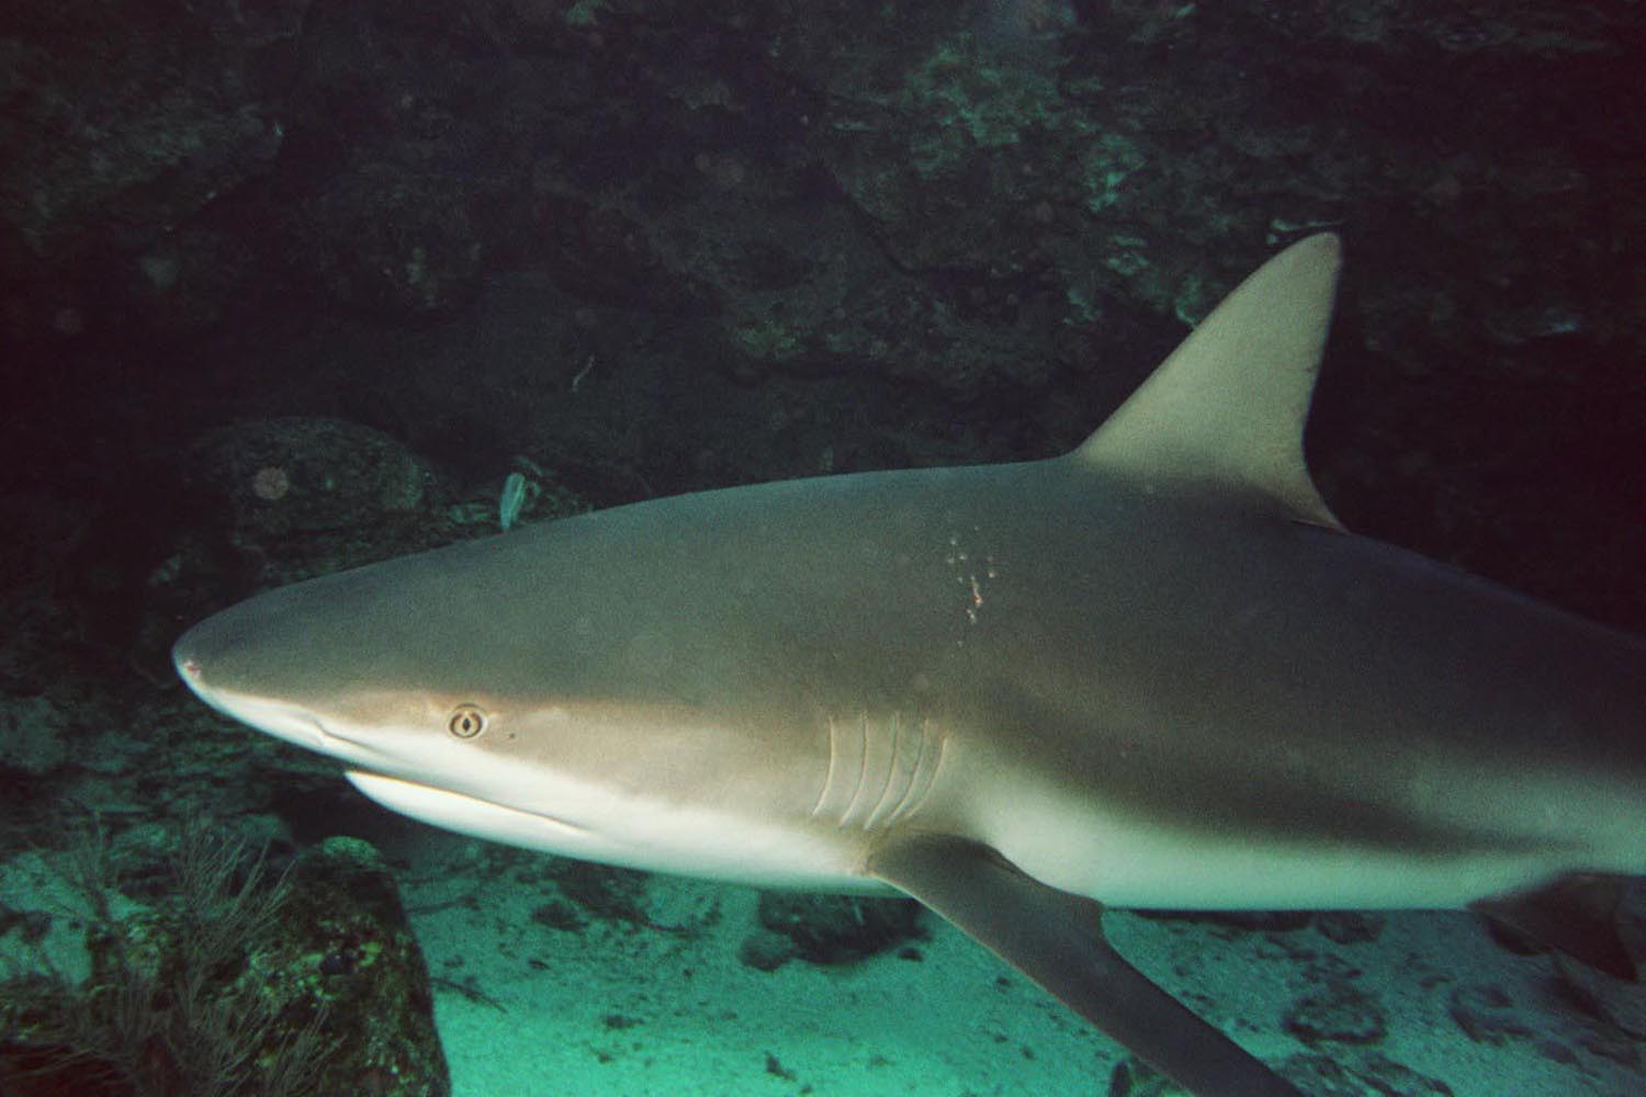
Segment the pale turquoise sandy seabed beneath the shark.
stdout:
[[[533,919],[555,895],[543,862],[509,852],[500,865],[487,849],[438,837],[398,854],[458,1097],[1086,1095],[1108,1092],[1123,1058],[935,916],[920,959],[762,972],[737,959],[757,926],[752,890],[657,877],[647,914],[688,933],[573,933]],[[1554,960],[1503,951],[1473,916],[1393,914],[1356,944],[1128,913],[1108,924],[1142,970],[1256,1054],[1325,1056],[1388,1085],[1366,1094],[1646,1094],[1646,987],[1580,972],[1605,1011],[1593,1016]],[[1310,1046],[1287,1031],[1300,1000],[1343,988],[1384,1036]]]

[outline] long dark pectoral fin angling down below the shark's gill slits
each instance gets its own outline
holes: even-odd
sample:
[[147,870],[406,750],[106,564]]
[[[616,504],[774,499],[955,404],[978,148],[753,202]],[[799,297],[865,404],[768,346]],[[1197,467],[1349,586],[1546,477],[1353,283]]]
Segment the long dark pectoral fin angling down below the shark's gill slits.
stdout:
[[943,835],[902,837],[877,850],[869,870],[1198,1097],[1302,1097],[1109,947],[1098,903],[1049,888],[986,845]]

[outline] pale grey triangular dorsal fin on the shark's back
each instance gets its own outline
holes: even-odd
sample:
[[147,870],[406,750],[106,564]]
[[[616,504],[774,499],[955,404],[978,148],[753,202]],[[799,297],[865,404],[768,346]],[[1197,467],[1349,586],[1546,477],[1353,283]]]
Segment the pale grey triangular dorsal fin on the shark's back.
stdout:
[[1146,484],[1251,493],[1281,513],[1341,530],[1304,464],[1341,263],[1320,234],[1236,286],[1149,380],[1075,451]]

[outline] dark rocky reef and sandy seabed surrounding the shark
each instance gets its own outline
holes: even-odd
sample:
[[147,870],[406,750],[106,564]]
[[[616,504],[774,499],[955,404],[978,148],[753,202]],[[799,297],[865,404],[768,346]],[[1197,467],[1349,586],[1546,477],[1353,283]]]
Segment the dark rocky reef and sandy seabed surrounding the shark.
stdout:
[[[171,641],[500,511],[1065,452],[1322,229],[1333,511],[1646,632],[1641,72],[1630,0],[8,3],[0,1097],[1172,1092],[912,903],[390,816]],[[1106,924],[1312,1094],[1646,1092],[1641,987],[1472,914]]]

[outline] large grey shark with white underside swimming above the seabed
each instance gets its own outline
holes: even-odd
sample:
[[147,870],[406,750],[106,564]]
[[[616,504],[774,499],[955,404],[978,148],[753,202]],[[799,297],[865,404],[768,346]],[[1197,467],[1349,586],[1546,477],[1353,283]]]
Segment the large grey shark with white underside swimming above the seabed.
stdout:
[[212,707],[466,834],[915,896],[1202,1097],[1299,1090],[1106,906],[1476,908],[1628,972],[1646,645],[1346,533],[1302,240],[1050,461],[737,487],[313,579],[176,645]]

